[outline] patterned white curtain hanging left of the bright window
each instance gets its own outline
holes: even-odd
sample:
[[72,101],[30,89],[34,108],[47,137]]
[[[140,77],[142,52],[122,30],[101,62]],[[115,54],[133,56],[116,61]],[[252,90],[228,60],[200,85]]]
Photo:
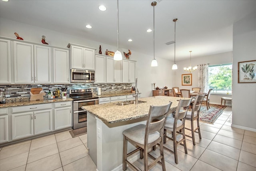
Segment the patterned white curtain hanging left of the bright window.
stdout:
[[201,88],[201,92],[207,93],[208,87],[208,64],[198,65],[198,87]]

